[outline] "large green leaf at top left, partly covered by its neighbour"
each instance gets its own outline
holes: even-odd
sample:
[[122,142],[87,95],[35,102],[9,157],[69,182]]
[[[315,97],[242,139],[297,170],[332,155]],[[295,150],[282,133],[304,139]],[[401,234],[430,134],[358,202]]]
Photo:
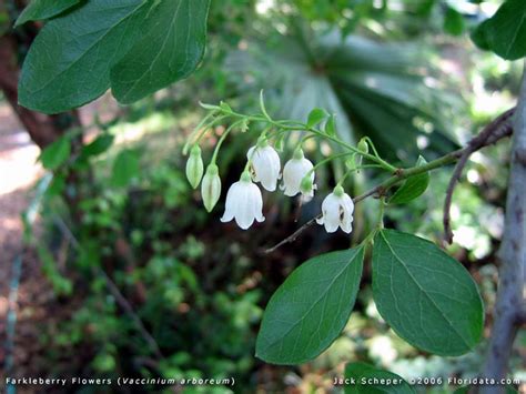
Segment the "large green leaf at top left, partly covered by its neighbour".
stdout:
[[23,62],[20,104],[58,113],[104,93],[110,88],[111,67],[142,33],[150,4],[143,0],[90,0],[45,23]]

